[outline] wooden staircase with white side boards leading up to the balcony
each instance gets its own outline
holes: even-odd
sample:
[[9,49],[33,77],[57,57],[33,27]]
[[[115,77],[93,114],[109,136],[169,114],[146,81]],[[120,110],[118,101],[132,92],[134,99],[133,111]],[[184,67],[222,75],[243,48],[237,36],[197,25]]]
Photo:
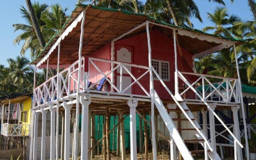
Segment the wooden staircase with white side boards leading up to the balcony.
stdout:
[[[176,99],[174,100],[177,104],[177,109],[166,109],[164,104],[162,103],[162,100],[160,100],[158,94],[156,91],[154,91],[154,103],[156,105],[156,108],[158,109],[158,112],[160,113],[160,116],[164,120],[164,123],[166,124],[166,127],[168,128],[178,150],[180,151],[182,157],[184,160],[193,160],[192,154],[198,154],[198,153],[205,153],[206,157],[208,156],[211,160],[221,160],[220,156],[214,150],[214,148],[211,146],[210,142],[202,132],[202,129],[200,128],[200,125],[194,118],[192,112],[189,110],[188,106],[185,102],[178,102]],[[173,97],[174,98],[174,97]],[[182,112],[186,118],[171,118],[167,111],[174,111],[174,112]],[[177,129],[174,121],[188,121],[191,124],[191,128],[179,128]],[[192,140],[183,140],[182,136],[180,136],[179,131],[187,131],[192,132],[196,135],[197,139]],[[204,150],[193,150],[189,151],[188,147],[186,146],[185,142],[198,142],[202,145]]]

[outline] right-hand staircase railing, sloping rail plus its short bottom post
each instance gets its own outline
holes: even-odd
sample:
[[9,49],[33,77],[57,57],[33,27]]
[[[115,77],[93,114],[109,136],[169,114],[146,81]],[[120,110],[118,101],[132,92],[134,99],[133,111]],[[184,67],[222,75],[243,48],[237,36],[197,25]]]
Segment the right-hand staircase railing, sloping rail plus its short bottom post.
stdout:
[[[206,100],[196,91],[196,89],[188,82],[188,80],[183,76],[183,74],[181,72],[178,71],[178,76],[180,77],[180,79],[186,83],[186,85],[188,85],[190,87],[191,90],[193,90],[196,94],[196,96],[198,96],[200,98],[200,100],[202,100],[202,102],[204,102],[204,104],[207,106],[209,112],[212,112],[212,114],[217,118],[217,120],[222,124],[222,126],[224,126],[224,128],[228,131],[228,133],[234,138],[234,154],[235,154],[235,159],[237,159],[237,154],[236,154],[236,148],[237,148],[237,144],[241,147],[244,148],[244,146],[241,144],[241,142],[236,138],[236,136],[234,136],[234,134],[230,131],[230,129],[228,128],[228,126],[226,126],[226,124],[221,120],[221,118],[216,114],[216,112],[214,112],[214,110],[212,110],[212,108],[210,107],[210,105],[206,102]],[[238,91],[239,92],[239,91]]]

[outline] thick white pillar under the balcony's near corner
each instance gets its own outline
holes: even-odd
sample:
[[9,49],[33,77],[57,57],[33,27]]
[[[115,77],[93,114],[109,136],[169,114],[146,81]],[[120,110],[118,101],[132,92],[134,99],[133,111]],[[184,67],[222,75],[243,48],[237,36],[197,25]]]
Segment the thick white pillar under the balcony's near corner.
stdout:
[[81,160],[88,159],[88,125],[90,97],[80,96],[82,104]]

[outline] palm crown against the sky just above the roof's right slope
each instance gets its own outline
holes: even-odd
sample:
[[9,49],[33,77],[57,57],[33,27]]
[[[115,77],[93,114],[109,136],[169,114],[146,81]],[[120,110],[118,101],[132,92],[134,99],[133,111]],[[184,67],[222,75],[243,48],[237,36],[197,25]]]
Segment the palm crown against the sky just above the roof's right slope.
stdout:
[[227,11],[226,8],[217,7],[213,14],[207,13],[208,19],[214,22],[215,26],[206,26],[202,31],[208,32],[213,30],[213,34],[232,37],[231,26],[240,19],[234,15],[229,16]]

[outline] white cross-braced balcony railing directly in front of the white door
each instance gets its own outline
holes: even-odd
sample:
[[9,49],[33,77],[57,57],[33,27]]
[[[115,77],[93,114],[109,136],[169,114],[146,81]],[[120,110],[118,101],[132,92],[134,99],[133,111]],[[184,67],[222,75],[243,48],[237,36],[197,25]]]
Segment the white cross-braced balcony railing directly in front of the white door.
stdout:
[[[103,68],[101,68],[97,65],[97,62],[105,64],[107,66],[110,66],[110,64],[112,64],[112,65],[114,65],[114,68],[112,68],[112,70],[105,71]],[[98,74],[99,74],[98,77],[100,77],[100,78],[98,78],[96,80],[96,82],[92,82],[93,84],[91,86],[89,86],[89,87],[86,86],[85,90],[87,92],[100,92],[100,93],[105,93],[105,94],[118,94],[118,95],[124,95],[124,96],[138,96],[138,97],[143,97],[143,98],[150,97],[150,95],[148,93],[149,88],[147,88],[147,89],[144,88],[144,86],[139,82],[139,80],[144,78],[147,74],[149,75],[149,67],[140,66],[140,65],[136,65],[136,64],[124,63],[124,62],[118,62],[118,61],[113,61],[113,60],[89,58],[88,68],[89,68],[89,72],[88,72],[88,76],[86,78],[86,84],[88,81],[90,81],[91,72],[94,72],[93,74],[95,74],[95,72],[98,71]],[[136,78],[136,76],[134,76],[134,74],[132,74],[132,70],[140,70],[140,72],[141,72],[140,76],[138,78]],[[114,83],[110,80],[111,76],[114,74],[117,74],[117,73],[118,73],[118,76],[120,77],[119,85],[117,85],[117,83]],[[124,75],[126,77],[130,77],[132,79],[131,84],[129,84],[126,87],[124,87],[124,82],[123,82]],[[94,88],[96,87],[96,85],[104,78],[110,84],[111,89],[109,88],[109,90],[104,90],[104,91],[103,90],[95,90]],[[116,80],[116,82],[117,82],[117,80]],[[148,83],[149,83],[149,81],[148,81]],[[132,86],[134,86],[134,84],[138,85],[136,90],[141,89],[143,91],[142,94],[132,94],[132,93],[126,92],[127,90],[132,88]]]

